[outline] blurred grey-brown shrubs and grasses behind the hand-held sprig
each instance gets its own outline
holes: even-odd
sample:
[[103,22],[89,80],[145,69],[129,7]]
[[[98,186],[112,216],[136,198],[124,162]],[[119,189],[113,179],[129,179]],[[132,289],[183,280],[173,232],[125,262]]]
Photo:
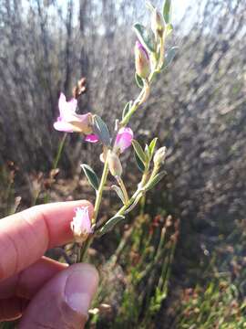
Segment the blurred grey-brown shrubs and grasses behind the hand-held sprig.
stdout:
[[[141,143],[168,147],[168,176],[132,225],[92,246],[102,286],[90,328],[246,328],[246,5],[173,5],[178,55],[131,123]],[[86,77],[79,111],[112,125],[138,92],[130,27],[146,13],[143,0],[0,0],[1,217],[93,199],[79,164],[100,172],[97,146],[67,136],[51,171],[57,99]],[[138,168],[124,156],[130,189]],[[105,200],[102,216],[114,207]]]

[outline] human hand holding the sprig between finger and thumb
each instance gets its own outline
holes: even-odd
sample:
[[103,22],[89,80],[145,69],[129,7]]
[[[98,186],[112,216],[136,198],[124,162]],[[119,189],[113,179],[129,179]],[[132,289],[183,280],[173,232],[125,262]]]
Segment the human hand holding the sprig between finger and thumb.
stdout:
[[73,201],[31,207],[0,220],[0,322],[22,316],[19,329],[84,328],[97,291],[97,270],[43,255],[73,239]]

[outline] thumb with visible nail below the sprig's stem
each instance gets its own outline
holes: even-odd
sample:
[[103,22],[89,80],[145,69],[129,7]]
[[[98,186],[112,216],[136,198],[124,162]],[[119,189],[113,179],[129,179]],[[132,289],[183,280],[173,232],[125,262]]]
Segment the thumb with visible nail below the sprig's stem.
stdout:
[[98,273],[89,264],[74,264],[36,294],[28,305],[19,329],[80,329],[97,291]]

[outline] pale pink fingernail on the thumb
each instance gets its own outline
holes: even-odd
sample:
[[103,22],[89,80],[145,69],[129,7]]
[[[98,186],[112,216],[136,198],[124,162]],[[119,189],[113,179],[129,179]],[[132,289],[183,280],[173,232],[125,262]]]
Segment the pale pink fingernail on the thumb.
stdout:
[[65,288],[66,302],[77,313],[87,314],[90,302],[97,291],[97,270],[88,264],[77,264],[68,276]]

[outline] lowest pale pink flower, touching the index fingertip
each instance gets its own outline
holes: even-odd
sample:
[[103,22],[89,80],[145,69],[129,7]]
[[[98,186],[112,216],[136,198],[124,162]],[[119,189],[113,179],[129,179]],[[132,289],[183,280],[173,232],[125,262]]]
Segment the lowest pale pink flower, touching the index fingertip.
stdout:
[[87,239],[90,233],[93,233],[91,221],[88,214],[88,207],[77,207],[76,216],[73,218],[70,227],[74,233],[77,242],[81,243]]

